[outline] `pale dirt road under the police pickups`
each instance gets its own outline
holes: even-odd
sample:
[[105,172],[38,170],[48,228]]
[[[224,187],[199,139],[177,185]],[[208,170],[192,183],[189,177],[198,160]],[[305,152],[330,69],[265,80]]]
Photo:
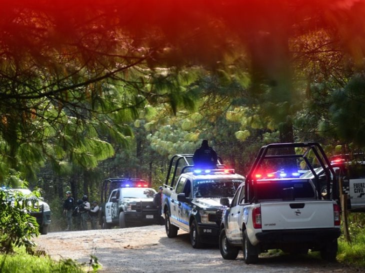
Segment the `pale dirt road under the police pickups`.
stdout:
[[193,249],[187,233],[179,231],[177,238],[169,239],[164,226],[55,232],[35,242],[56,260],[87,263],[94,255],[103,266],[101,272],[358,272],[308,256],[266,257],[256,265],[246,265],[240,253],[235,261],[225,261],[217,246]]

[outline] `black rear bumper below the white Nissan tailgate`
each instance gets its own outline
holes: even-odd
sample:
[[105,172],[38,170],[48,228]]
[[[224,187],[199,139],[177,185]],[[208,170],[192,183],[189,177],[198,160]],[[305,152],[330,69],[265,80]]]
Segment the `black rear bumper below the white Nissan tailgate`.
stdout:
[[337,239],[341,232],[337,228],[263,231],[256,234],[260,244],[293,244],[305,243],[318,245]]

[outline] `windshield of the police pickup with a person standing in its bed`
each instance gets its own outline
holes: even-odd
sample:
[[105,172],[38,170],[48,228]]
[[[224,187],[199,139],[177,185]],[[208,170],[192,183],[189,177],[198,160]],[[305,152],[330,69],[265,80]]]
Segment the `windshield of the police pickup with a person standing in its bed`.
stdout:
[[195,180],[193,197],[232,197],[242,182],[242,179]]

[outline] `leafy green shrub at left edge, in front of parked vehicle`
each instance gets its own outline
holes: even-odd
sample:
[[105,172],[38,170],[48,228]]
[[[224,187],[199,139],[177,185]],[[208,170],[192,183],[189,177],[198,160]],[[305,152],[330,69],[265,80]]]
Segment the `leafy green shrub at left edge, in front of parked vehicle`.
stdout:
[[11,253],[14,247],[24,246],[28,253],[35,244],[31,240],[39,235],[36,219],[29,215],[35,210],[39,193],[24,196],[20,192],[0,189],[0,252]]

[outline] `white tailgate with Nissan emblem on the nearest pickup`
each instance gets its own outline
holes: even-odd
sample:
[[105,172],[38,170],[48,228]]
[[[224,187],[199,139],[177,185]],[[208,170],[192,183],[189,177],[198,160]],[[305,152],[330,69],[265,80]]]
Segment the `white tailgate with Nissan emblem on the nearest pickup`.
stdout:
[[263,231],[333,228],[333,202],[262,202],[261,223]]

